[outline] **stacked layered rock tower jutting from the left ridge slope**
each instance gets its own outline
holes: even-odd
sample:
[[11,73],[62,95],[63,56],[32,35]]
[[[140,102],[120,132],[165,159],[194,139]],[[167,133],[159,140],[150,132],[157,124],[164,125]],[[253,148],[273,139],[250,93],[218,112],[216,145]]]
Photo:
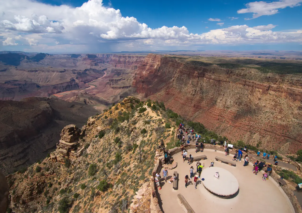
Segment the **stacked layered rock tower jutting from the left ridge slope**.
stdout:
[[82,155],[85,147],[81,146],[79,137],[85,135],[85,126],[82,129],[83,131],[74,124],[67,125],[62,129],[57,150],[51,153],[51,158],[54,161],[63,163],[68,158],[74,160]]

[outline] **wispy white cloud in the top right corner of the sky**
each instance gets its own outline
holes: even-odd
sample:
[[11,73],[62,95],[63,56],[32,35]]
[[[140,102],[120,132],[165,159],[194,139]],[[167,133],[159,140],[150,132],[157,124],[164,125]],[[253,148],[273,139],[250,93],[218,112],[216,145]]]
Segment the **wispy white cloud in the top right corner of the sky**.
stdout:
[[286,7],[300,6],[301,0],[281,0],[278,2],[249,2],[246,4],[247,8],[240,9],[237,13],[253,13],[252,18],[258,18],[262,15],[273,15],[278,13],[278,9]]

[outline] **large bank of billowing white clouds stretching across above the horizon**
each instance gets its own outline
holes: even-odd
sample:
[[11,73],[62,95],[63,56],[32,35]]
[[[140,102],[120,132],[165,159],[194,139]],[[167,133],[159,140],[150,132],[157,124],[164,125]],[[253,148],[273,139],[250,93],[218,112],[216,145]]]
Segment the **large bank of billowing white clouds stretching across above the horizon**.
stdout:
[[[109,52],[165,46],[302,42],[301,30],[272,31],[277,26],[274,24],[235,25],[201,34],[189,32],[185,26],[153,29],[135,17],[123,17],[118,9],[106,8],[102,0],[90,0],[76,8],[10,0],[0,4],[0,11],[5,11],[0,16],[2,45],[28,45],[32,51],[40,52]],[[224,24],[218,18],[209,18],[209,21],[217,21],[220,26]]]

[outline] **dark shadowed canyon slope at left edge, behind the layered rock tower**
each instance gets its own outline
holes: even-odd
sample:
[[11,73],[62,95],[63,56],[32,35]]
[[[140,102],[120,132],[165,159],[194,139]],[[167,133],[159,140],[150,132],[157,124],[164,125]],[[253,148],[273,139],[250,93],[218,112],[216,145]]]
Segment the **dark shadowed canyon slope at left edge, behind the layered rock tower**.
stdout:
[[97,113],[92,105],[57,98],[0,100],[0,169],[8,174],[45,158],[64,126],[81,127]]

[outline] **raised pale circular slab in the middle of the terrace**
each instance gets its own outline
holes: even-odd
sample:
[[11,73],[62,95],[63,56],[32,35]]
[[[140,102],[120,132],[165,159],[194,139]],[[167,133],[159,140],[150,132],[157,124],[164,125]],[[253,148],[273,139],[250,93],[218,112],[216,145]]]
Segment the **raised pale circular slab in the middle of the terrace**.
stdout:
[[[218,178],[215,177],[216,173],[219,174]],[[236,177],[220,167],[208,167],[202,170],[201,178],[204,178],[201,182],[208,191],[223,198],[229,198],[239,189]]]

